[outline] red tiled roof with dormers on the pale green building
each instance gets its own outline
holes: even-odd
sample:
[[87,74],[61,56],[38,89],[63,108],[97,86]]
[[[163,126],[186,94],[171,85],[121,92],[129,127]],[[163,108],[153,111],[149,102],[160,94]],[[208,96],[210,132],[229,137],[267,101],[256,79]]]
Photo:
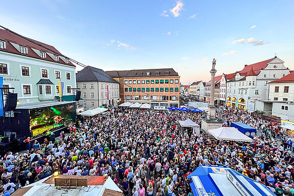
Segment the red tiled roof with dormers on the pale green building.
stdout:
[[[28,38],[28,39],[31,39],[31,38]],[[3,29],[0,29],[0,40],[3,40],[3,41],[6,41],[6,49],[2,49],[0,48],[0,51],[4,51],[4,52],[8,52],[8,53],[13,53],[13,54],[17,54],[17,55],[21,55],[21,56],[27,56],[27,57],[32,57],[32,58],[37,58],[37,59],[41,59],[41,60],[46,60],[46,61],[51,61],[51,62],[57,62],[57,63],[61,63],[61,64],[65,64],[65,65],[71,65],[71,66],[74,66],[75,65],[73,63],[65,63],[63,62],[60,58],[59,58],[59,61],[55,61],[54,59],[52,59],[48,54],[46,55],[46,58],[41,58],[39,55],[37,55],[33,50],[39,50],[41,52],[48,52],[48,53],[51,53],[51,54],[55,54],[57,56],[59,56],[58,54],[60,54],[60,52],[58,50],[56,50],[56,48],[52,45],[48,45],[46,43],[42,43],[42,42],[39,42],[39,41],[36,41],[36,40],[33,40],[31,39],[32,41],[35,41],[39,44],[42,44],[43,46],[46,46],[48,48],[50,48],[51,50],[57,52],[57,53],[54,53],[40,45],[37,45],[33,42],[30,42],[29,40],[26,40],[20,36],[17,36],[9,31],[6,31],[6,30],[3,30]],[[28,47],[28,54],[22,54],[20,52],[18,52],[18,50],[16,50],[16,48],[10,43],[16,43],[18,45],[21,45],[21,46],[26,46]]]

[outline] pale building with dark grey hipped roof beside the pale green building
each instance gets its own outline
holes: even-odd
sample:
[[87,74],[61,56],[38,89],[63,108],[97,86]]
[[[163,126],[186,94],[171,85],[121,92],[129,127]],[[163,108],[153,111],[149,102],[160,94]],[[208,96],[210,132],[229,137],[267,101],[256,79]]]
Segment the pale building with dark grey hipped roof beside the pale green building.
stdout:
[[102,69],[87,66],[76,74],[77,88],[86,108],[97,108],[103,105],[117,105],[120,99],[119,82],[112,79]]

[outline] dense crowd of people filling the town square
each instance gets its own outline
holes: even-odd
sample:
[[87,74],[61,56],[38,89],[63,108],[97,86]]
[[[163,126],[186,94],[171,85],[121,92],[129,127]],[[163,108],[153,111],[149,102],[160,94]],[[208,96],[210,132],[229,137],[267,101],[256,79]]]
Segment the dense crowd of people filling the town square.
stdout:
[[[178,120],[201,125],[201,113],[110,108],[85,118],[69,133],[43,143],[30,141],[23,154],[8,152],[0,163],[4,196],[58,171],[108,175],[123,195],[193,195],[187,177],[200,165],[223,165],[263,183],[277,195],[294,193],[294,138],[273,122],[240,109],[220,109],[223,126],[240,121],[260,134],[254,143],[213,140],[180,129]],[[30,139],[30,138],[28,138]],[[28,140],[27,140],[28,141]],[[27,145],[28,146],[28,145]]]

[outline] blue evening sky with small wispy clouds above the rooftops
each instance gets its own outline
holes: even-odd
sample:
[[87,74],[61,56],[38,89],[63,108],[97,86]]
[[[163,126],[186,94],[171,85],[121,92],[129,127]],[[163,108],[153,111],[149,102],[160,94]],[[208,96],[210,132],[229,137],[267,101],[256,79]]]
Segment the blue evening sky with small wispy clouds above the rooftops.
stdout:
[[[209,81],[275,55],[294,69],[294,1],[2,1],[0,24],[103,70],[173,68]],[[82,67],[77,66],[77,70]]]

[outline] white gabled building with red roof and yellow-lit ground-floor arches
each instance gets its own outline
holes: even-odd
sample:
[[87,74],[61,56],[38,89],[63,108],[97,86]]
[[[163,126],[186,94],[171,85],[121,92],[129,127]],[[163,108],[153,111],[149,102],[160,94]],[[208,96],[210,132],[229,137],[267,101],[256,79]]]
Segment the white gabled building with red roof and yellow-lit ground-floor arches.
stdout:
[[227,106],[248,111],[268,111],[268,82],[289,74],[284,61],[275,57],[245,67],[227,82]]

